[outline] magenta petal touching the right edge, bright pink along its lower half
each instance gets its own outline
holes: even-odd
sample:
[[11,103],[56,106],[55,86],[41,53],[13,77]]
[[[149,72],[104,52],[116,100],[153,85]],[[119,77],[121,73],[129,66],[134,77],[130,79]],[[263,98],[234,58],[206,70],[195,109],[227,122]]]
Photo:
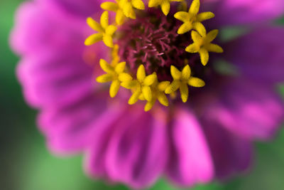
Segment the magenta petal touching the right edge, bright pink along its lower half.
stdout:
[[269,139],[284,120],[284,105],[271,86],[234,80],[223,87],[219,103],[208,105],[207,115],[241,137]]

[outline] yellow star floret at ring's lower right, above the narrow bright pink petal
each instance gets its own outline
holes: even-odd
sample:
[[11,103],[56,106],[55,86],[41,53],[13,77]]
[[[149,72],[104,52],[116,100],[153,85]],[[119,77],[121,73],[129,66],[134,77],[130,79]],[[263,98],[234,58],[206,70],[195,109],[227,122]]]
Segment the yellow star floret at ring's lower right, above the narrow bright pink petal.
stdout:
[[165,89],[166,94],[170,94],[180,89],[180,96],[182,102],[186,102],[188,98],[188,86],[193,87],[203,87],[205,85],[204,81],[200,78],[195,78],[191,76],[190,65],[186,65],[182,71],[175,68],[175,66],[170,66],[170,74],[173,77],[173,82],[170,83],[168,88]]

